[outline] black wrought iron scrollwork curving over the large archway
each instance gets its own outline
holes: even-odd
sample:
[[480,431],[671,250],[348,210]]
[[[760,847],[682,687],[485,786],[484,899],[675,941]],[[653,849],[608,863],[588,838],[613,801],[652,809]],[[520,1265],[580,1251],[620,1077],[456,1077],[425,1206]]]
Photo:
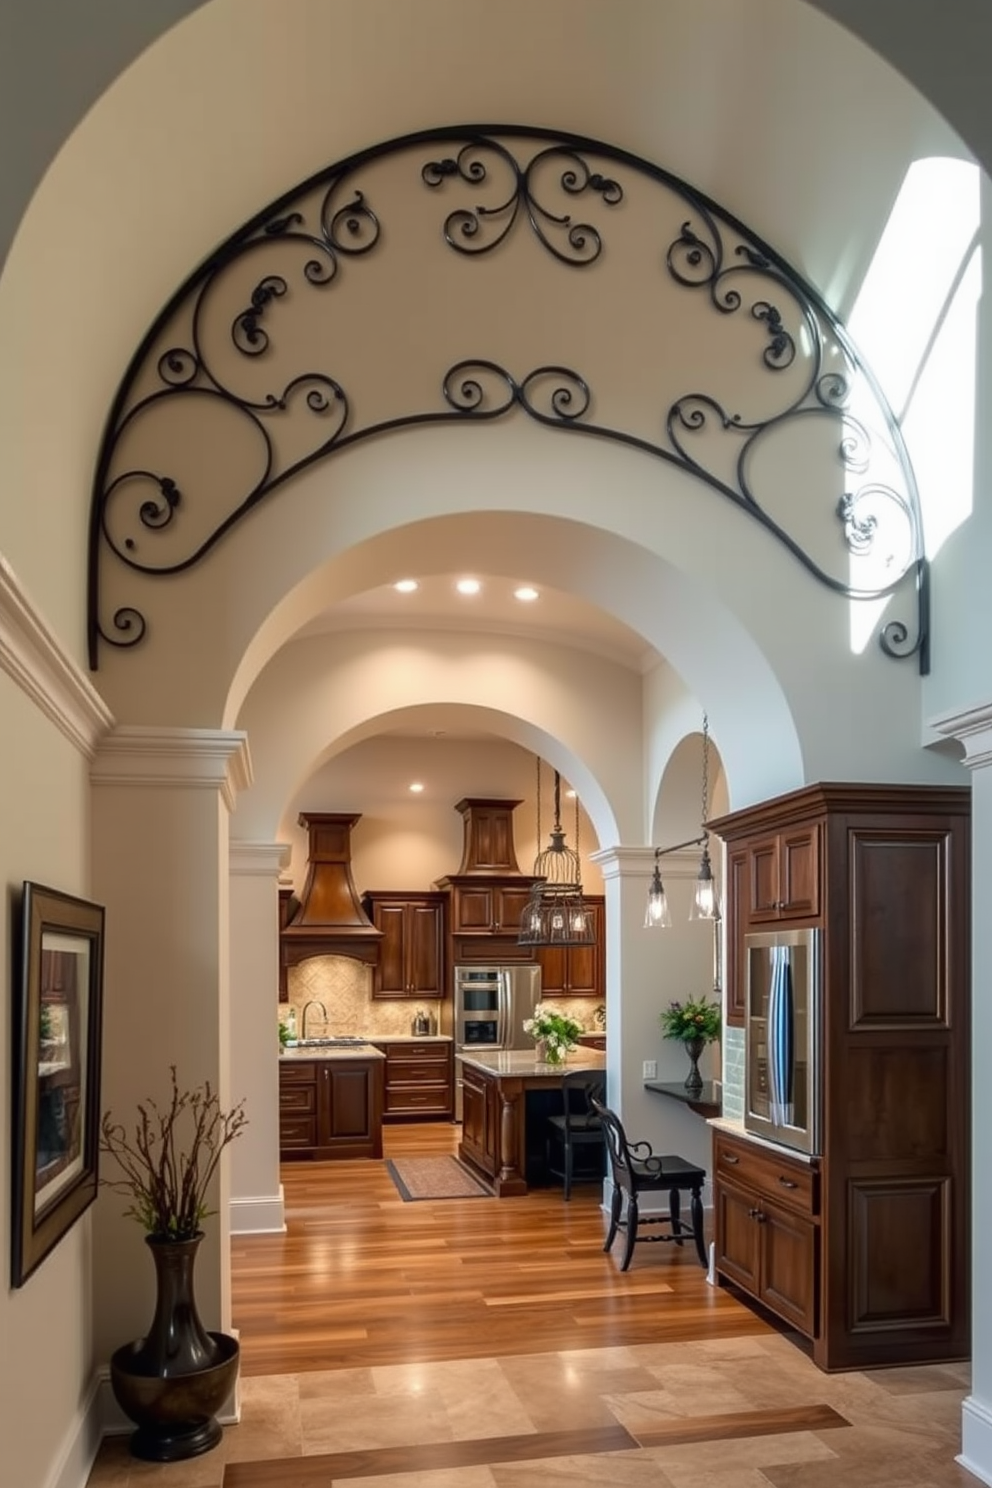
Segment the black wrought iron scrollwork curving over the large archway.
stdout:
[[[529,159],[506,141],[538,141]],[[357,185],[358,173],[370,162],[400,152],[433,149],[422,161],[419,177],[431,192],[443,193],[449,183],[463,186],[491,180],[498,167],[510,180],[510,190],[495,205],[454,205],[442,225],[443,244],[463,257],[498,250],[526,222],[535,240],[559,263],[571,269],[593,265],[604,248],[602,231],[592,222],[576,222],[571,213],[555,213],[538,199],[535,176],[552,165],[558,186],[567,198],[598,198],[604,208],[623,201],[623,185],[602,167],[620,168],[665,186],[681,198],[686,217],[678,235],[660,250],[660,260],[671,278],[687,292],[703,293],[715,312],[735,315],[745,310],[763,327],[764,347],[760,365],[767,373],[791,368],[797,357],[797,332],[809,365],[799,394],[793,393],[767,418],[742,421],[727,412],[705,391],[678,397],[662,411],[665,439],[647,439],[632,430],[596,424],[589,418],[593,406],[589,381],[571,368],[547,365],[528,371],[509,369],[480,356],[448,369],[436,408],[416,409],[400,417],[360,424],[345,385],[329,371],[302,371],[281,390],[263,397],[247,397],[231,387],[207,356],[202,338],[204,307],[222,286],[225,274],[244,266],[247,257],[272,244],[305,256],[305,284],[320,292],[335,284],[348,259],[358,259],[381,246],[381,222]],[[595,165],[590,165],[590,159]],[[318,198],[317,207],[308,198]],[[681,214],[681,213],[680,213]],[[748,298],[745,286],[754,278],[766,286],[760,298]],[[233,351],[248,359],[265,359],[269,326],[278,302],[290,292],[286,272],[259,277],[247,305],[233,317],[229,339]],[[790,324],[784,307],[797,317]],[[183,333],[173,339],[173,327]],[[170,345],[162,347],[168,333]],[[870,390],[877,429],[869,429],[851,408],[855,378]],[[181,558],[146,561],[143,543],[181,522],[187,496],[174,473],[165,469],[128,467],[119,458],[125,437],[138,420],[173,408],[177,397],[213,400],[201,403],[232,412],[260,437],[262,461],[254,479],[228,515],[195,542]],[[149,576],[180,573],[198,564],[220,539],[259,501],[318,460],[360,440],[393,429],[455,421],[491,421],[521,409],[537,423],[564,432],[610,439],[674,464],[705,482],[761,524],[822,585],[849,600],[880,600],[891,595],[912,573],[916,594],[913,628],[889,620],[879,632],[882,650],[892,658],[918,658],[921,674],[930,670],[930,571],[924,552],[919,496],[912,464],[895,415],[870,369],[860,357],[845,327],[824,301],[767,244],[742,226],[708,196],[678,177],[629,152],[571,134],[521,125],[474,125],[439,128],[405,135],[363,150],[311,177],[272,202],[219,247],[173,295],[135,351],[110,409],[94,479],[89,554],[88,554],[88,640],[89,665],[98,667],[100,643],[115,647],[137,646],[147,622],[137,607],[117,607],[109,625],[101,613],[101,564],[119,564]],[[302,412],[300,412],[302,411]],[[317,437],[302,455],[280,464],[272,439],[280,421],[315,421]],[[872,551],[877,537],[877,515],[883,507],[904,527],[904,559],[898,571],[877,588],[854,588],[827,573],[772,515],[764,510],[751,482],[756,452],[770,432],[799,420],[828,420],[837,432],[836,457],[845,478],[866,475],[873,436],[885,440],[901,487],[889,481],[852,482],[837,503],[836,519],[849,555]],[[308,426],[309,427],[309,426]],[[739,437],[733,482],[706,469],[692,449],[693,436],[718,427]],[[846,484],[846,479],[845,479]],[[126,501],[129,525],[119,536],[112,521],[115,509]]]

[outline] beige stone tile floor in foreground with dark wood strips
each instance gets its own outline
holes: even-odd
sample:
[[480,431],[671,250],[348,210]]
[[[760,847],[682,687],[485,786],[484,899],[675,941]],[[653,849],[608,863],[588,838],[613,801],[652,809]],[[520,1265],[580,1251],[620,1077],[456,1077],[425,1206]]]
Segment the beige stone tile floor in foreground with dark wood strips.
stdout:
[[[254,1376],[213,1452],[156,1466],[112,1437],[89,1488],[974,1488],[955,1463],[968,1379],[825,1375],[778,1335]],[[616,1427],[629,1449],[582,1449]],[[471,1460],[431,1464],[436,1443]]]

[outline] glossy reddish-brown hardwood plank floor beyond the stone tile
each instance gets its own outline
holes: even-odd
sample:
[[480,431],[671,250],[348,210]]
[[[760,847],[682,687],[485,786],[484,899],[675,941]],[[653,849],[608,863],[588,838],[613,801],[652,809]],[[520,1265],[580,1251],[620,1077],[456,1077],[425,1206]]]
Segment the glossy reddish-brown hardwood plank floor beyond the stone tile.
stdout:
[[[385,1153],[454,1152],[458,1131],[387,1126]],[[772,1332],[690,1244],[638,1245],[623,1275],[595,1184],[410,1204],[361,1161],[284,1164],[283,1184],[287,1234],[232,1242],[244,1375]]]

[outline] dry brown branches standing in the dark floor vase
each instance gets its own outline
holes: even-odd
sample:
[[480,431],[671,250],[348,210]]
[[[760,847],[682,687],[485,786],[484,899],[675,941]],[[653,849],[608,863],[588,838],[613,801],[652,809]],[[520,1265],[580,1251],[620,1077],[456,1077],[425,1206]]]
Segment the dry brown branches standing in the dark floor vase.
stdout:
[[125,1214],[155,1240],[192,1240],[207,1208],[207,1189],[220,1153],[247,1125],[244,1101],[222,1112],[210,1080],[180,1091],[171,1065],[173,1097],[165,1110],[155,1101],[138,1106],[129,1137],[106,1112],[100,1123],[100,1150],[113,1158],[122,1178],[101,1178],[115,1193],[131,1199]]

